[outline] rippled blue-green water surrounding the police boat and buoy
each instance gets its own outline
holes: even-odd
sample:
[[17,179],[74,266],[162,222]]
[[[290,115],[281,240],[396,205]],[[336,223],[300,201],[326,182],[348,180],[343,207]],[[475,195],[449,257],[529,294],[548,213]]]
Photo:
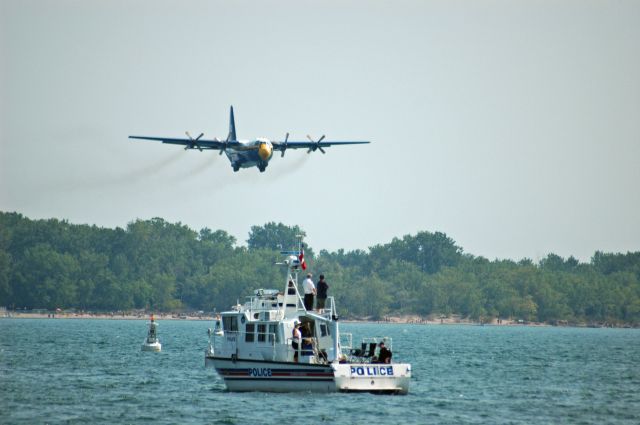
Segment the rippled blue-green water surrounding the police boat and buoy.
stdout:
[[393,338],[407,396],[229,393],[208,322],[0,320],[0,423],[638,424],[640,330],[347,324]]

